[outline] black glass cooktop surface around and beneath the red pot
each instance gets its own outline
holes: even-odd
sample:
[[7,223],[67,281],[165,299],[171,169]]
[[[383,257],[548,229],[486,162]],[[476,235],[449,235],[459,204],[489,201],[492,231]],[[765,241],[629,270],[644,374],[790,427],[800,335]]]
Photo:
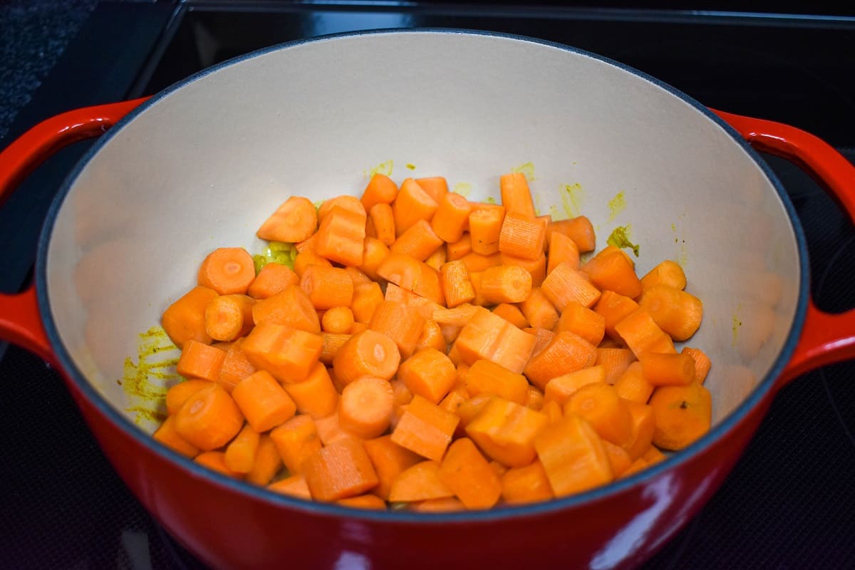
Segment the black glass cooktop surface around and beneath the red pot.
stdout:
[[[429,26],[590,50],[711,107],[804,128],[855,160],[855,18],[818,7],[814,15],[804,7],[781,15],[694,4],[101,3],[0,142],[63,110],[155,93],[268,45]],[[60,152],[0,211],[3,291],[26,282],[50,198],[87,146]],[[849,221],[798,168],[764,158],[805,226],[817,304],[834,312],[855,307]],[[855,567],[853,376],[855,364],[842,363],[783,389],[722,489],[645,568]],[[0,567],[203,567],[130,495],[56,371],[10,347],[0,359],[0,385]]]

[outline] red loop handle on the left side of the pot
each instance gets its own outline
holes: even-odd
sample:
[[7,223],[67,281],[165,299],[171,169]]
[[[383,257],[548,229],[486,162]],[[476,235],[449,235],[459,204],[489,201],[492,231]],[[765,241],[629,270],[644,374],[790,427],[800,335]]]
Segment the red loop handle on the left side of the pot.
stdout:
[[[0,152],[0,206],[27,174],[57,150],[103,134],[147,98],[67,111],[43,120],[15,139]],[[56,364],[38,313],[34,285],[15,295],[0,294],[0,339],[18,344]]]

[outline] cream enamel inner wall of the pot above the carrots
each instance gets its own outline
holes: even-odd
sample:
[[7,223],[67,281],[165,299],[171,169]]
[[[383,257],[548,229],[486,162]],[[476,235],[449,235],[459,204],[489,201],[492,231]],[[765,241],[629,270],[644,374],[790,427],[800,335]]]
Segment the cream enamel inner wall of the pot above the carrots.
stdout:
[[[68,191],[48,248],[50,312],[74,363],[115,408],[132,407],[116,382],[123,363],[136,357],[139,332],[194,285],[203,256],[259,251],[254,232],[286,197],[358,195],[387,161],[398,182],[445,175],[475,200],[498,197],[498,176],[531,162],[541,213],[565,214],[562,191],[574,185],[598,248],[630,225],[640,274],[680,261],[687,291],[705,303],[689,344],[714,362],[716,421],[787,338],[799,292],[793,228],[762,169],[715,121],[575,51],[384,32],[220,68],[103,144]],[[625,208],[610,208],[620,192]]]

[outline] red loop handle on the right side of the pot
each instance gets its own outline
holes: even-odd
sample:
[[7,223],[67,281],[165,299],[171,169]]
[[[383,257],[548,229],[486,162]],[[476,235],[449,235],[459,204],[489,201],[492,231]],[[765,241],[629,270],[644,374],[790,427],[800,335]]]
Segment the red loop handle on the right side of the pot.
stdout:
[[[756,150],[781,156],[802,168],[855,222],[855,167],[822,139],[794,126],[711,109]],[[814,368],[855,358],[855,309],[840,314],[808,300],[805,326],[777,388]]]

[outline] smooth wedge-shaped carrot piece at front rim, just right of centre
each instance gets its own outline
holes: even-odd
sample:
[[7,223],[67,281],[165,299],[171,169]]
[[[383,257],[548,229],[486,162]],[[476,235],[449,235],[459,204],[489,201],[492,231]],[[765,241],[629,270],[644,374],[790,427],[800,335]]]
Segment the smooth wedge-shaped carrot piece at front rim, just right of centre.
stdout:
[[502,483],[469,438],[455,440],[439,465],[439,480],[466,505],[491,508],[502,494]]

